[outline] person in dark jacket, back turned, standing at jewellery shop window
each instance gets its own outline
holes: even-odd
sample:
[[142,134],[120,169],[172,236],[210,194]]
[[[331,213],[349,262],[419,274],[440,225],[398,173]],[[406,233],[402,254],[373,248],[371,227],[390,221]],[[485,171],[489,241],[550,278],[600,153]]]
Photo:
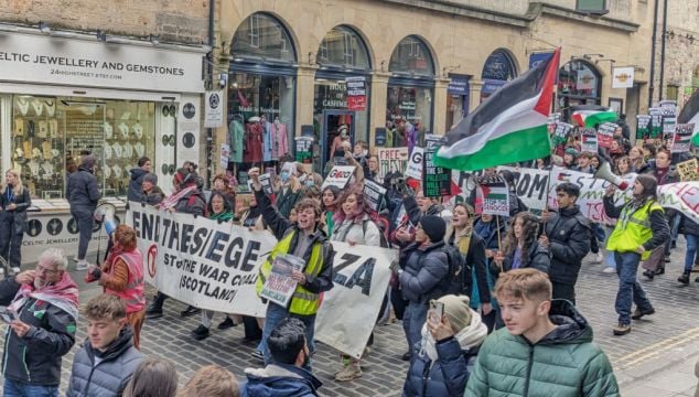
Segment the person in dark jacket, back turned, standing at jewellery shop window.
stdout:
[[80,233],[77,246],[77,270],[87,270],[87,245],[93,237],[93,226],[95,224],[95,208],[101,197],[95,171],[97,170],[97,159],[92,154],[83,155],[80,167],[77,171],[68,175],[66,183],[66,197],[71,204],[71,215]]

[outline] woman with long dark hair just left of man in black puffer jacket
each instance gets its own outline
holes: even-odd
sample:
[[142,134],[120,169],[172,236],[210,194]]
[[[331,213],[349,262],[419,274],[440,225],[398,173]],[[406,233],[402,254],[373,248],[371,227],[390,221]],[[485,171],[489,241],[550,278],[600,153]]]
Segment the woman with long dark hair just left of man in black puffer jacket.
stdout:
[[495,255],[491,271],[495,275],[512,269],[535,268],[548,273],[551,259],[549,251],[539,242],[541,223],[530,212],[521,212],[510,221],[509,229],[503,242],[502,250]]

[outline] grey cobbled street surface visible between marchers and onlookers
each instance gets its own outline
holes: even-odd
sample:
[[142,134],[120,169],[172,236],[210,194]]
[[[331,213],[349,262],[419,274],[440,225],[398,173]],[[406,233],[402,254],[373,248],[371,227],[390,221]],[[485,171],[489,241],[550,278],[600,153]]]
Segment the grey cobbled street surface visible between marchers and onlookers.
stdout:
[[[657,313],[647,320],[636,321],[634,330],[626,336],[613,336],[612,328],[616,323],[614,296],[617,279],[615,275],[606,275],[602,265],[585,262],[578,281],[578,304],[583,315],[594,329],[595,341],[612,360],[617,378],[630,396],[688,396],[691,388],[693,363],[699,357],[699,318],[696,310],[699,303],[699,283],[678,287],[676,281],[680,272],[680,257],[684,250],[677,249],[673,255],[667,273],[654,281],[644,281]],[[699,276],[699,273],[697,273]],[[693,277],[692,277],[693,278]],[[88,289],[82,296],[86,302],[99,290]],[[149,289],[149,299],[153,291]],[[165,316],[147,321],[143,326],[142,350],[147,355],[157,355],[173,361],[180,373],[180,382],[184,383],[201,366],[217,364],[230,369],[239,378],[244,377],[244,368],[259,366],[250,356],[254,344],[243,342],[243,328],[226,331],[212,330],[212,336],[205,341],[194,341],[190,331],[196,328],[197,316],[181,319],[179,312],[184,305],[169,300],[165,303]],[[214,319],[214,324],[223,320]],[[367,319],[367,321],[372,321]],[[85,339],[85,322],[79,324],[78,339]],[[400,323],[379,326],[370,355],[363,362],[364,376],[350,383],[336,383],[334,373],[340,369],[340,357],[333,348],[319,344],[313,367],[324,386],[321,391],[325,396],[399,396],[407,372],[407,363],[399,360],[406,351]],[[64,380],[67,384],[69,364],[73,352],[64,361]],[[684,360],[678,361],[678,352],[685,352]],[[670,361],[668,357],[674,357]],[[668,365],[674,365],[669,367]],[[648,367],[650,366],[650,367]],[[668,372],[669,375],[668,375]],[[684,374],[684,383],[671,376]],[[653,379],[653,376],[670,376],[665,382],[671,387],[681,388],[676,393],[664,389],[639,388],[639,382]],[[668,387],[670,387],[668,386]],[[644,386],[645,387],[645,386]],[[671,388],[670,388],[671,389]],[[659,391],[658,391],[659,390]]]

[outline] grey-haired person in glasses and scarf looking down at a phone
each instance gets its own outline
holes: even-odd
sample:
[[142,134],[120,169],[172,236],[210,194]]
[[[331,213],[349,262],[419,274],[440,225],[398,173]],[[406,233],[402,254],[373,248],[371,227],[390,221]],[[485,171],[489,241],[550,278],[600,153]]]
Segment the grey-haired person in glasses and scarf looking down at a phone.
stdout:
[[78,289],[57,248],[46,249],[34,270],[0,282],[6,331],[2,368],[6,396],[58,396],[61,357],[75,344]]

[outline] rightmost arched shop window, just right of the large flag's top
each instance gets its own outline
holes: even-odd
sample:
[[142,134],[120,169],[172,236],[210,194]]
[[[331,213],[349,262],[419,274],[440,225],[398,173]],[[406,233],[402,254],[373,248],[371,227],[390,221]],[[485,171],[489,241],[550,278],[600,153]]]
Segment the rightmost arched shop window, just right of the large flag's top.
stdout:
[[558,96],[561,105],[600,105],[602,78],[590,63],[573,60],[558,72]]

